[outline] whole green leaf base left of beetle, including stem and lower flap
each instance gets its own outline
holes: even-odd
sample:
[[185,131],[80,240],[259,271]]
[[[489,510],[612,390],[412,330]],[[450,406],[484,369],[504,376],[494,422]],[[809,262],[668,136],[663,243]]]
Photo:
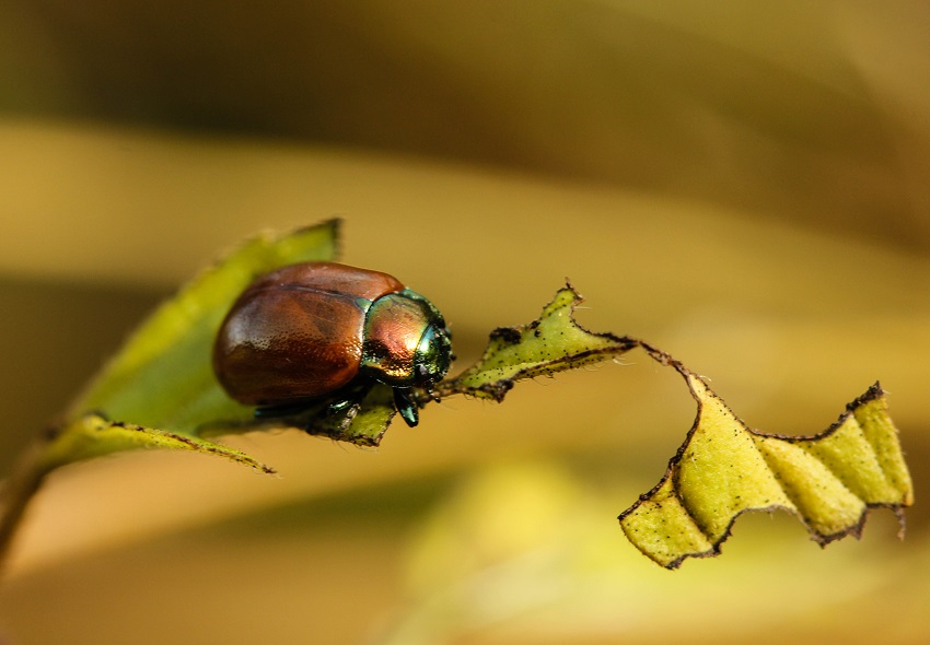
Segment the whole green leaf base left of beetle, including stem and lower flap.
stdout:
[[339,222],[332,220],[284,235],[259,235],[205,270],[142,322],[61,421],[21,456],[4,482],[0,564],[30,500],[61,466],[121,450],[173,448],[274,472],[201,436],[259,426],[252,408],[229,398],[213,376],[213,340],[252,281],[287,265],[334,259],[338,231]]

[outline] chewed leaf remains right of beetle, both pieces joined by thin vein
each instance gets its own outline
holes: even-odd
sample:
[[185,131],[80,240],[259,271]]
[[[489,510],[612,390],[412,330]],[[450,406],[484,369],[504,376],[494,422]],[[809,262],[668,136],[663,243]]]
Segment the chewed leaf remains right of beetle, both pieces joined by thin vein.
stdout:
[[677,370],[698,402],[697,420],[662,481],[620,515],[630,541],[659,564],[675,568],[685,558],[717,554],[735,518],[747,511],[792,512],[825,544],[858,536],[870,507],[900,513],[911,503],[897,431],[877,385],[821,435],[766,435],[748,429],[669,354],[642,340],[580,327],[572,318],[579,302],[568,285],[538,320],[497,329],[480,361],[441,383],[435,394],[500,401],[515,380],[604,361],[635,347]]

